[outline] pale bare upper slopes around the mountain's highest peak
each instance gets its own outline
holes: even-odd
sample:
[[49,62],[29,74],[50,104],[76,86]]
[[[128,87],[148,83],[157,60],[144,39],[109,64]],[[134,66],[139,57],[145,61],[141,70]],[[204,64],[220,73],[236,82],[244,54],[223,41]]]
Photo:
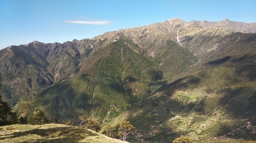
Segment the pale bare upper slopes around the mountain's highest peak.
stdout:
[[[218,23],[218,22],[217,22]],[[256,27],[255,24],[251,24],[252,27]],[[232,26],[231,26],[232,27]],[[225,27],[224,27],[225,28]],[[121,29],[115,32],[107,32],[104,33],[103,35],[96,36],[93,39],[104,39],[106,37],[111,37],[112,41],[118,38],[118,35],[124,34],[125,36],[128,36],[131,38],[138,46],[140,46],[142,49],[147,46],[147,43],[145,45],[145,41],[153,42],[150,43],[150,45],[156,46],[156,48],[159,47],[159,45],[162,45],[161,41],[157,41],[156,39],[162,39],[162,41],[175,41],[181,46],[187,47],[187,45],[193,45],[193,46],[199,46],[201,49],[206,49],[206,52],[211,50],[211,49],[216,49],[216,45],[219,40],[222,38],[224,35],[231,34],[230,31],[226,31],[224,28],[219,28],[219,29],[205,29],[201,28],[197,24],[194,23],[186,23],[185,21],[181,20],[180,18],[173,18],[171,20],[163,21],[161,23],[155,23],[155,24],[150,24],[147,26],[140,26],[136,28],[131,28],[131,29]],[[143,30],[146,29],[146,33],[143,33]],[[232,32],[232,31],[231,31]],[[236,29],[233,30],[233,32],[236,32]],[[158,35],[158,37],[155,39],[153,38],[153,35]],[[213,43],[203,43],[203,45],[198,45],[198,36],[197,35],[209,35],[209,36],[214,36],[215,38],[212,39],[212,41],[209,42],[214,42]],[[201,39],[201,37],[199,37]],[[189,41],[188,41],[189,39]],[[192,41],[190,40],[192,39]],[[200,41],[199,39],[199,41]],[[189,43],[188,43],[189,42]],[[191,44],[191,42],[194,42]],[[215,45],[213,47],[209,48],[210,45]],[[194,47],[188,47],[191,48],[190,51],[194,51]],[[157,53],[156,49],[144,49],[147,51],[147,55],[154,57],[155,54]],[[194,52],[194,54],[199,55],[199,53]]]

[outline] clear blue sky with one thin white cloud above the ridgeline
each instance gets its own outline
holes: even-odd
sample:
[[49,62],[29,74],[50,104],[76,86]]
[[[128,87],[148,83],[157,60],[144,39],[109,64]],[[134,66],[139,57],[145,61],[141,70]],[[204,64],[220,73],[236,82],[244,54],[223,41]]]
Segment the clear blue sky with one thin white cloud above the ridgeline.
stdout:
[[179,17],[256,22],[255,0],[0,0],[0,49],[65,42]]

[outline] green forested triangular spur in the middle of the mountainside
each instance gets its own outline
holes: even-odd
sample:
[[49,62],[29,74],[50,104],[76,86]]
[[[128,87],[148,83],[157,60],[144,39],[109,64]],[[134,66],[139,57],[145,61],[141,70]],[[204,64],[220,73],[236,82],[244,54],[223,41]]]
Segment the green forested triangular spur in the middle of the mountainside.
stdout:
[[150,83],[162,77],[149,58],[122,41],[113,42],[95,56],[97,59],[88,61],[95,62],[92,67],[46,89],[37,96],[36,104],[62,121],[79,122],[81,114],[88,114],[106,122],[146,98],[151,92]]

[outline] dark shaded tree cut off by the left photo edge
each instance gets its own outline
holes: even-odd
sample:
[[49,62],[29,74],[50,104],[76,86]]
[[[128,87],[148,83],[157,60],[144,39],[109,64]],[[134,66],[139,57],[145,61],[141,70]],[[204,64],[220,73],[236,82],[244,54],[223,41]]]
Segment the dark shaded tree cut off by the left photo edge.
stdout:
[[11,111],[7,102],[2,101],[0,95],[0,126],[17,123],[17,115]]

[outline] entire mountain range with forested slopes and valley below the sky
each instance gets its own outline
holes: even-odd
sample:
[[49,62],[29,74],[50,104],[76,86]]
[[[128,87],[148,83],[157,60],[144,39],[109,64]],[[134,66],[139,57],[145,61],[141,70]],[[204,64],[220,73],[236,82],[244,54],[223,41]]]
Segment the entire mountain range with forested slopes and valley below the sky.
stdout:
[[[255,140],[255,23],[179,18],[0,51],[0,94],[19,115],[129,120],[131,142]],[[235,140],[235,141],[239,141]]]

